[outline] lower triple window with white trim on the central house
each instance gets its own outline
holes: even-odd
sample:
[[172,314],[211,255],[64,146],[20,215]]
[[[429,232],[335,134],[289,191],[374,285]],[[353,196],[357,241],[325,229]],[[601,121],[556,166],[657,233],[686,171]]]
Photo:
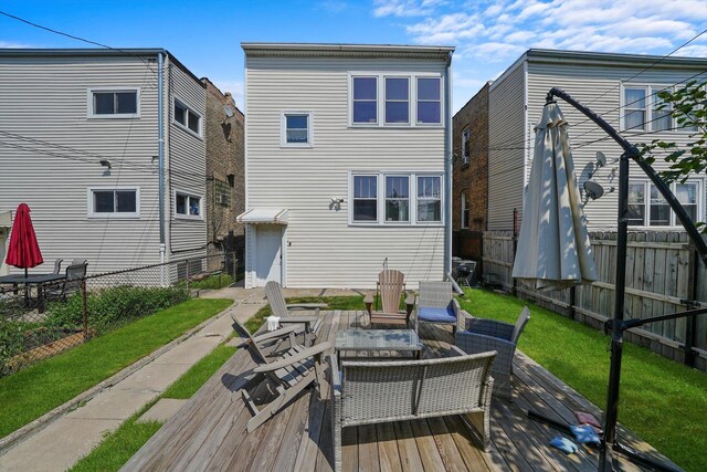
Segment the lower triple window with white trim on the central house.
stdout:
[[349,186],[351,224],[442,224],[441,174],[352,172]]

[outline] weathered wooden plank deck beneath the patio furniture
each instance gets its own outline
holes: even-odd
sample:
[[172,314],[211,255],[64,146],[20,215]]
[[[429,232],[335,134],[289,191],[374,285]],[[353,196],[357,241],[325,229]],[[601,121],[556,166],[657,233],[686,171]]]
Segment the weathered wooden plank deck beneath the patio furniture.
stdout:
[[[333,345],[337,331],[368,327],[368,316],[361,312],[328,312],[324,317],[319,340]],[[453,337],[449,327],[424,324],[420,335],[426,346],[425,357],[451,355]],[[319,400],[312,390],[254,432],[246,432],[251,413],[238,390],[242,375],[253,366],[247,349],[239,349],[123,470],[330,471],[330,402]],[[513,381],[514,401],[493,402],[489,452],[478,448],[460,417],[351,427],[344,429],[344,469],[597,470],[595,450],[580,447],[578,453],[564,455],[548,445],[560,433],[530,421],[526,412],[532,409],[561,422],[573,422],[572,411],[590,411],[599,418],[599,409],[521,353],[516,355]],[[664,460],[629,431],[620,429],[620,436],[635,449]],[[622,465],[624,470],[637,470],[630,463]]]

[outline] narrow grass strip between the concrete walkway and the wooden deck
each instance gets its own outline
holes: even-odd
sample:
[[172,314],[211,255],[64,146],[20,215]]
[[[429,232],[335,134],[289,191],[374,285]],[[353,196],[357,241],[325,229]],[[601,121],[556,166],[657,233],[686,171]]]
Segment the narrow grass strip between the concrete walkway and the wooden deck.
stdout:
[[[159,398],[191,398],[219,368],[235,354],[235,347],[223,344],[191,366]],[[71,469],[71,472],[117,471],[119,470],[162,426],[158,421],[138,423],[137,419],[158,400],[149,402],[140,411],[126,420],[103,442]]]

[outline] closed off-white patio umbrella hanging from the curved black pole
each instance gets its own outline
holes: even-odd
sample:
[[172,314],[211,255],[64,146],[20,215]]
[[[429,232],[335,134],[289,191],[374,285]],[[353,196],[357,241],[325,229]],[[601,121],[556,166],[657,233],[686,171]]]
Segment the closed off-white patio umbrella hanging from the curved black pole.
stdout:
[[530,179],[513,276],[535,289],[564,289],[597,280],[567,122],[548,103],[536,126]]

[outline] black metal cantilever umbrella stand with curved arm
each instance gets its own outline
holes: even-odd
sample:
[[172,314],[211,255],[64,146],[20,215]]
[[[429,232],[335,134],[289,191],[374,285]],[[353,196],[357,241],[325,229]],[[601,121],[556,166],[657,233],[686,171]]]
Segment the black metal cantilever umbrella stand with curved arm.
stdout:
[[667,319],[676,319],[684,317],[694,317],[707,314],[707,308],[690,310],[680,313],[673,313],[647,318],[630,318],[624,319],[624,297],[626,291],[626,247],[629,235],[629,159],[633,159],[641,170],[648,176],[652,183],[658,189],[663,198],[668,202],[671,209],[679,220],[683,228],[687,232],[692,243],[694,244],[703,263],[707,265],[707,243],[703,240],[695,223],[690,220],[677,198],[671,191],[671,188],[661,179],[661,176],[646,162],[639,149],[629,143],[619,134],[611,125],[609,125],[601,116],[597,115],[587,106],[577,102],[567,92],[552,87],[547,94],[547,103],[552,103],[558,97],[572,105],[584,116],[602,128],[613,140],[615,140],[623,149],[619,165],[619,214],[616,228],[616,293],[614,301],[614,317],[606,321],[605,329],[611,332],[611,365],[609,369],[609,391],[606,395],[606,409],[604,418],[604,433],[601,441],[599,455],[599,470],[602,472],[613,470],[613,454],[618,452],[639,465],[652,468],[658,471],[675,471],[675,469],[658,463],[650,458],[639,454],[631,448],[621,444],[616,440],[616,421],[619,417],[619,391],[621,384],[621,360],[623,355],[623,335],[626,329],[643,326],[650,323],[663,322]]

